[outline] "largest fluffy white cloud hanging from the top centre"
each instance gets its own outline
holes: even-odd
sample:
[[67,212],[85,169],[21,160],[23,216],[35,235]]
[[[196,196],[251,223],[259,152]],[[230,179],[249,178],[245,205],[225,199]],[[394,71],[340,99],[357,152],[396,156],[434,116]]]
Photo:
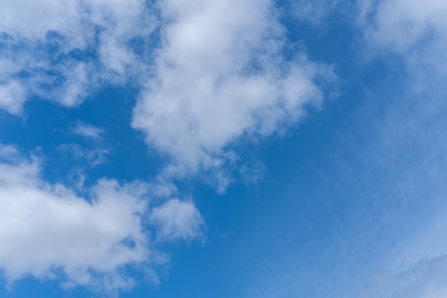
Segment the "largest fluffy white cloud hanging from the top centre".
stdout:
[[234,156],[231,142],[281,131],[307,104],[321,104],[315,80],[331,70],[299,52],[283,55],[285,29],[271,1],[170,0],[160,9],[169,22],[133,126],[174,158],[166,173],[222,167]]

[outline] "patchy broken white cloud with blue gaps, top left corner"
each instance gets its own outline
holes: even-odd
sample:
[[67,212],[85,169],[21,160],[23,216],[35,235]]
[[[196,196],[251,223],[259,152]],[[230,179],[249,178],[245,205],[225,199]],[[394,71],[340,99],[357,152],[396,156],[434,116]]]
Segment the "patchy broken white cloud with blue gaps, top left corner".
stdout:
[[32,96],[81,103],[104,81],[136,71],[138,38],[154,19],[146,1],[2,1],[0,108],[20,114]]

